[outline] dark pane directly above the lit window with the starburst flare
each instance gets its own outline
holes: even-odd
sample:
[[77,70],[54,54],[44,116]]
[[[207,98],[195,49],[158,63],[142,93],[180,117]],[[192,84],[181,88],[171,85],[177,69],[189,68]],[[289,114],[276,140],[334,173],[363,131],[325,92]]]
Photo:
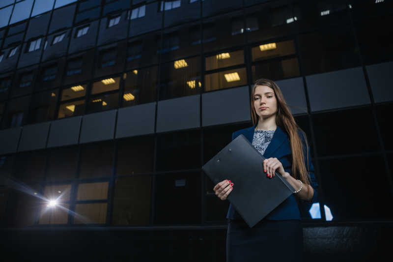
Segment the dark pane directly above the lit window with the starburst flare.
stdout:
[[47,181],[75,178],[78,164],[78,146],[52,148],[48,154]]

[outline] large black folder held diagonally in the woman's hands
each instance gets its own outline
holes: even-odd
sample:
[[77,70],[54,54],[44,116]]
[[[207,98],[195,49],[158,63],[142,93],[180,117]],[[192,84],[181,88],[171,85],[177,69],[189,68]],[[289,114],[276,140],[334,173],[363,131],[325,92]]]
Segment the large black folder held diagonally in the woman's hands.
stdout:
[[225,179],[234,183],[226,199],[250,228],[295,191],[278,172],[267,177],[263,160],[247,138],[239,135],[202,167],[214,184]]

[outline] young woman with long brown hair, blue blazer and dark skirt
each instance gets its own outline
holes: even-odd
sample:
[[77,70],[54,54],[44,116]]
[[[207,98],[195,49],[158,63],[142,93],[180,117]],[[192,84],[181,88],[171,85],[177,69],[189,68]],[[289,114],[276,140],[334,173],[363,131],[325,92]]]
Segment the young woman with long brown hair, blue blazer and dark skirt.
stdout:
[[[303,230],[298,203],[317,202],[318,187],[306,135],[290,113],[280,87],[272,80],[255,82],[251,109],[253,126],[234,132],[232,140],[243,134],[266,158],[266,176],[272,178],[277,172],[296,191],[253,228],[229,204],[226,261],[302,261]],[[213,190],[226,200],[236,190],[234,184],[236,181],[223,180]]]

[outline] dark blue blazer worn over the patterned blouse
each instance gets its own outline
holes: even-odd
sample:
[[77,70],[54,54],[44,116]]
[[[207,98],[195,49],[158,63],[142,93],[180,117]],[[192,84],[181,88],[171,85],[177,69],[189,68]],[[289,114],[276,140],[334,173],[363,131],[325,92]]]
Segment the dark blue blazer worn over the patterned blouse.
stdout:
[[[240,134],[243,134],[248,141],[253,144],[254,137],[254,129],[255,126],[244,128],[232,133],[232,140],[234,140]],[[314,166],[311,162],[311,156],[309,153],[309,165],[307,165],[307,150],[306,150],[306,142],[303,138],[303,135],[300,130],[298,130],[298,134],[303,142],[304,149],[304,159],[306,164],[306,169],[310,173],[310,185],[314,189],[314,196],[310,201],[300,200],[299,204],[307,204],[310,205],[312,203],[317,202],[317,189],[318,183],[315,179],[314,175]],[[309,148],[308,148],[309,149]],[[273,134],[273,138],[270,141],[269,146],[266,148],[263,156],[265,158],[276,157],[282,164],[285,172],[292,174],[291,166],[292,166],[292,158],[291,158],[291,146],[289,143],[289,135],[282,130],[279,126],[277,126],[276,131]],[[236,190],[236,189],[234,189]],[[263,200],[262,200],[263,201]],[[240,214],[236,211],[235,207],[232,204],[229,204],[228,213],[226,214],[227,219],[233,220],[243,220]],[[289,196],[284,202],[282,202],[279,206],[277,206],[272,212],[270,212],[265,219],[267,220],[289,220],[289,219],[298,219],[301,220],[299,206],[295,198],[295,194]]]

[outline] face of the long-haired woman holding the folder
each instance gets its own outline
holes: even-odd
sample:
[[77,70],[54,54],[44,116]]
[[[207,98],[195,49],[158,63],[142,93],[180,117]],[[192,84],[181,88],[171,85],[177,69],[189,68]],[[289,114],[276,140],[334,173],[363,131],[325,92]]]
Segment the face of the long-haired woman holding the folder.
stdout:
[[254,108],[259,119],[273,116],[277,112],[277,99],[274,90],[267,86],[256,86],[254,89]]

